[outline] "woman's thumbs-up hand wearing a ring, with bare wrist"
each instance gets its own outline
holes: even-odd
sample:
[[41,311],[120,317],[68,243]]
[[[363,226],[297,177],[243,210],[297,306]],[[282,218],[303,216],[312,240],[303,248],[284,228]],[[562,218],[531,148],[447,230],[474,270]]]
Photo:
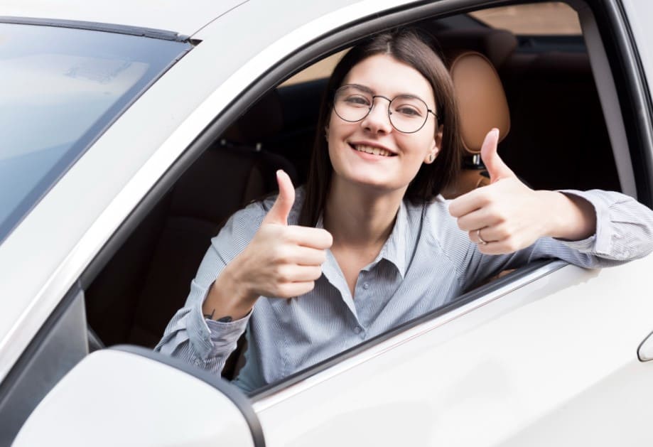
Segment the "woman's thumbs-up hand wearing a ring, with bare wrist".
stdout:
[[577,240],[595,232],[593,205],[576,195],[532,190],[497,154],[499,131],[483,142],[481,157],[490,185],[452,200],[449,212],[458,227],[485,254],[512,253],[544,236]]

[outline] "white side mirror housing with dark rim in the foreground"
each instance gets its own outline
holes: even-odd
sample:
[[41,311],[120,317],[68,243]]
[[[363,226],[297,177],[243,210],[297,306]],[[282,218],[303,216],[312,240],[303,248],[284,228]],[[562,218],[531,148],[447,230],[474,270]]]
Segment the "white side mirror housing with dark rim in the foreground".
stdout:
[[13,446],[263,446],[251,404],[225,380],[132,346],[85,357]]

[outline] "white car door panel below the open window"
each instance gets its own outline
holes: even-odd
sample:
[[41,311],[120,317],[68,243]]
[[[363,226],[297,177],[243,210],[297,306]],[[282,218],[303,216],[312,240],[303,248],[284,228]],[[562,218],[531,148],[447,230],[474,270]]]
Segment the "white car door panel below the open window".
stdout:
[[[637,346],[653,328],[652,268],[653,257],[565,266],[366,362],[320,372],[289,399],[261,399],[266,445],[649,445],[653,363],[637,360]],[[615,324],[618,333],[605,330]]]

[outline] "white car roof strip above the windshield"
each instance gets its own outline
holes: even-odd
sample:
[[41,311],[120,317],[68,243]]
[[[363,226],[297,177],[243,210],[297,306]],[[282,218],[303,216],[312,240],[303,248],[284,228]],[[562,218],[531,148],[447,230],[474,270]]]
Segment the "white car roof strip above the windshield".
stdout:
[[247,0],[2,0],[0,16],[111,23],[192,36]]

